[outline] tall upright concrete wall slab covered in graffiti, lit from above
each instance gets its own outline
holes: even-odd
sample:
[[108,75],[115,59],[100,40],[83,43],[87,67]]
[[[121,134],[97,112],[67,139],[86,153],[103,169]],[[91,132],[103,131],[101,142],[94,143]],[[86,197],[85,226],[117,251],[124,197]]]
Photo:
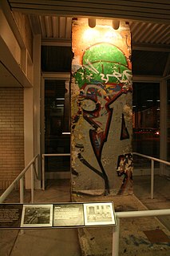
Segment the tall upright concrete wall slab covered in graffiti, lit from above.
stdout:
[[132,193],[131,35],[125,22],[72,26],[72,192]]

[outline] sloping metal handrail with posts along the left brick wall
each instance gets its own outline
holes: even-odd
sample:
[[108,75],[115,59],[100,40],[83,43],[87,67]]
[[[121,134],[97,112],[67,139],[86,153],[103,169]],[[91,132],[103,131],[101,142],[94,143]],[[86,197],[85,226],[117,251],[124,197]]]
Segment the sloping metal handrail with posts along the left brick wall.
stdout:
[[38,158],[39,154],[37,156],[34,156],[34,158],[30,161],[28,165],[26,165],[25,169],[22,170],[22,173],[19,173],[18,177],[14,179],[14,181],[10,184],[10,186],[2,193],[0,197],[0,203],[2,203],[6,197],[10,195],[12,190],[15,188],[15,185],[20,181],[20,203],[23,203],[24,198],[24,176],[28,169],[31,168],[31,202],[34,202],[34,174],[38,178],[38,173],[36,171],[35,167],[35,161]]

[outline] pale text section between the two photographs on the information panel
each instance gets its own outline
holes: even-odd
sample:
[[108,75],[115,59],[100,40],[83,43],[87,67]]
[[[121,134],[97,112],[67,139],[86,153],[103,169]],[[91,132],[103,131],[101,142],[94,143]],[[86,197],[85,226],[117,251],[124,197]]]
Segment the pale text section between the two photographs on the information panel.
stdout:
[[83,204],[53,205],[53,226],[84,226]]

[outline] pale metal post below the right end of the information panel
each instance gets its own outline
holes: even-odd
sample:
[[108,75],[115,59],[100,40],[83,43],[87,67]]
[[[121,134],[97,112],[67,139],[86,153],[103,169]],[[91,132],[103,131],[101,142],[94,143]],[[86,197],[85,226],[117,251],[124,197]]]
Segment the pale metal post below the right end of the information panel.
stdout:
[[112,252],[112,256],[119,256],[119,232],[120,232],[120,218],[117,217],[117,226],[113,227],[113,252]]

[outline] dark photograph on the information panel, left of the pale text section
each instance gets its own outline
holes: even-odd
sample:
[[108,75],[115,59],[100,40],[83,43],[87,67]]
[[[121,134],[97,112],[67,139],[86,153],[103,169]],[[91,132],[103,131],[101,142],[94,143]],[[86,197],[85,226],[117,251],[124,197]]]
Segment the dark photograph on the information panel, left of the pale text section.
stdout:
[[47,227],[53,225],[53,205],[23,205],[22,227]]

